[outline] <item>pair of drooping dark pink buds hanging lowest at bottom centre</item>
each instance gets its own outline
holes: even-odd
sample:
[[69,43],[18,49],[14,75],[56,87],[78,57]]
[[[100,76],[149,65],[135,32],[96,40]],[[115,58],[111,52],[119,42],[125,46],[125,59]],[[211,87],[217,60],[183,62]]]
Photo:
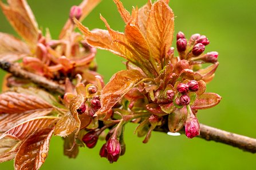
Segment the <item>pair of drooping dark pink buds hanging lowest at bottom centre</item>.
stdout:
[[121,148],[119,140],[116,137],[111,137],[110,139],[108,139],[107,143],[105,143],[103,147],[101,147],[100,156],[107,157],[109,162],[113,163],[119,159],[119,156],[121,155],[121,150],[123,149]]

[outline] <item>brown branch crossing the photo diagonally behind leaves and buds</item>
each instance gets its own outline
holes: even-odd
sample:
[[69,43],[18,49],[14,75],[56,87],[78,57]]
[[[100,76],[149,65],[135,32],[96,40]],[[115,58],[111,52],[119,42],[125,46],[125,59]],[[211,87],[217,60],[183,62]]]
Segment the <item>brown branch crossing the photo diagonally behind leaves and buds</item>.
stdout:
[[[13,74],[14,76],[29,79],[31,82],[38,84],[41,87],[46,88],[49,91],[60,92],[60,94],[64,94],[65,87],[57,82],[46,79],[44,76],[40,76],[37,74],[33,74],[26,70],[23,70],[18,63],[10,63],[3,60],[0,60],[0,67]],[[168,132],[168,127],[165,128],[156,128],[154,131],[160,132]],[[233,147],[237,147],[239,149],[243,149],[243,151],[256,153],[256,139],[251,137],[238,135],[235,133],[223,131],[221,129],[213,128],[210,126],[206,126],[204,124],[200,124],[200,136],[205,140],[213,140],[216,142],[224,143],[231,145]]]

